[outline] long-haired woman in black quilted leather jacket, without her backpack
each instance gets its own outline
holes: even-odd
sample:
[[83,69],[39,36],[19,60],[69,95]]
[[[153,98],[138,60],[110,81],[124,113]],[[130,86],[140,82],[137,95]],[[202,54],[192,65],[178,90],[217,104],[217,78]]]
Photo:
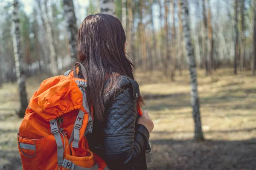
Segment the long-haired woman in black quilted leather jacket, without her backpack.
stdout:
[[[90,150],[111,170],[145,170],[145,149],[154,125],[144,111],[133,64],[125,56],[125,31],[108,14],[86,17],[78,33],[79,59],[87,73],[87,101],[93,105]],[[80,75],[82,78],[82,75]]]

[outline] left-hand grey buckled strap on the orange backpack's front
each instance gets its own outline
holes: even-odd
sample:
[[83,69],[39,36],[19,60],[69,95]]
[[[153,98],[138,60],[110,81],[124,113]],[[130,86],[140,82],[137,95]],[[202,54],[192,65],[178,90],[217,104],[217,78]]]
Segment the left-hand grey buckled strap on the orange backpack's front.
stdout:
[[49,121],[51,125],[51,132],[54,135],[56,144],[57,144],[57,158],[58,165],[62,165],[63,163],[63,143],[61,139],[61,134],[59,133],[57,121],[55,119]]

